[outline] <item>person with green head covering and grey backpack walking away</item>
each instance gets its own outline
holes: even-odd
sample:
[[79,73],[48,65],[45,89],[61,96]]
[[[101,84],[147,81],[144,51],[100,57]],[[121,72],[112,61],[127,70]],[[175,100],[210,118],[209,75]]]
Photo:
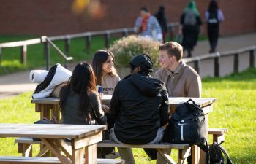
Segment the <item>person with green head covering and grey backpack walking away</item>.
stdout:
[[186,9],[184,9],[181,15],[180,23],[179,34],[183,34],[182,46],[184,50],[187,50],[188,57],[191,57],[192,50],[197,44],[200,25],[202,24],[195,1],[189,1],[189,4],[187,4]]

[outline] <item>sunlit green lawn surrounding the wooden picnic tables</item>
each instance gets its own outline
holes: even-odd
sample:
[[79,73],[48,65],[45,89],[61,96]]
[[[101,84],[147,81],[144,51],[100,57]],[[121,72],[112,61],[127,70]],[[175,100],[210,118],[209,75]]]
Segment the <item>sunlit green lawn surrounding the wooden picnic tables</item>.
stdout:
[[[217,98],[214,112],[209,114],[210,128],[228,128],[223,147],[233,163],[256,163],[256,69],[225,78],[203,79],[203,97]],[[32,123],[39,120],[30,103],[31,93],[0,100],[0,122]],[[12,138],[1,138],[0,155],[18,155]],[[150,161],[143,149],[133,149],[135,160]],[[176,152],[173,152],[176,154]],[[176,155],[174,155],[176,156]]]

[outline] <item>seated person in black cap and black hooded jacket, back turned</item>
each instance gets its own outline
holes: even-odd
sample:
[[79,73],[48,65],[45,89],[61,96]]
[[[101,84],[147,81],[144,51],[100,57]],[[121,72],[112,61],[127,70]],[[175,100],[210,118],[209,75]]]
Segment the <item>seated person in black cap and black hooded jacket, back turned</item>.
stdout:
[[[165,84],[151,77],[153,63],[148,55],[136,55],[129,69],[131,74],[118,82],[110,102],[110,139],[124,144],[158,143],[169,118]],[[118,148],[118,152],[125,163],[135,163],[132,149]]]

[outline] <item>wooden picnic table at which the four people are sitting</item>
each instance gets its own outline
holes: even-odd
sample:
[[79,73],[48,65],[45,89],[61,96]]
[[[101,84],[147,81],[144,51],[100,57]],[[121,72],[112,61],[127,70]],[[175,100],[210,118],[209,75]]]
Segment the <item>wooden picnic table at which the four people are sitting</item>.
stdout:
[[[112,95],[103,95],[102,102],[111,101]],[[206,129],[208,128],[208,113],[213,111],[213,103],[216,101],[216,98],[191,98],[195,101],[195,104],[199,105],[205,114]],[[169,97],[170,104],[170,114],[176,109],[178,104],[182,104],[188,101],[187,97]],[[43,117],[50,118],[51,116],[56,117],[57,120],[60,119],[60,108],[59,108],[59,98],[39,98],[31,99],[31,103],[35,104],[36,112],[40,112],[40,118]],[[207,133],[207,132],[206,132]],[[207,136],[207,135],[206,135]],[[192,147],[192,163],[205,163],[206,154],[197,146]]]

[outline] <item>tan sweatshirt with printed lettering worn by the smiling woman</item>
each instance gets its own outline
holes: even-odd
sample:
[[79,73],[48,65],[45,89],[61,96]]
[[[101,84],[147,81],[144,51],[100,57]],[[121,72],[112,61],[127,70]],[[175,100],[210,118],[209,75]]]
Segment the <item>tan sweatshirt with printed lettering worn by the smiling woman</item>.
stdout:
[[105,77],[103,77],[102,81],[102,93],[104,95],[113,95],[113,92],[115,90],[116,84],[120,81],[120,77],[118,75],[116,76],[110,76],[107,74]]

